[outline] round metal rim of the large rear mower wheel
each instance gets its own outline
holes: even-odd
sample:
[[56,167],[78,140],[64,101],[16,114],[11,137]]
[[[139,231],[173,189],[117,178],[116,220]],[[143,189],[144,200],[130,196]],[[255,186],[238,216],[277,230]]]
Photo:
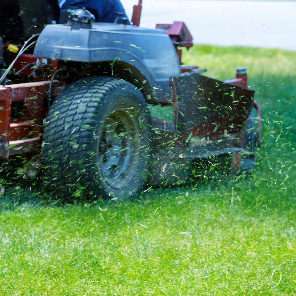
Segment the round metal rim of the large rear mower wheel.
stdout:
[[139,161],[140,134],[137,118],[119,107],[108,115],[98,141],[98,164],[101,178],[114,189],[123,189],[136,173]]

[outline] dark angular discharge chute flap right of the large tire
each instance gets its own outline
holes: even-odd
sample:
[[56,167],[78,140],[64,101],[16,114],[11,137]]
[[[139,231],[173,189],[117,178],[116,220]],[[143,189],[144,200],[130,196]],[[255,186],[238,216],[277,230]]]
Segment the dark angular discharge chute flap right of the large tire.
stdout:
[[190,133],[211,141],[237,136],[253,108],[255,91],[198,74],[172,78],[171,89],[178,99],[177,133],[184,139]]

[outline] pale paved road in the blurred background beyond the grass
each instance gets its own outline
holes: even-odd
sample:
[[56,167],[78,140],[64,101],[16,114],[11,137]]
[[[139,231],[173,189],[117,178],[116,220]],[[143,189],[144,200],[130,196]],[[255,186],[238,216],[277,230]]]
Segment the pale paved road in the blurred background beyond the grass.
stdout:
[[[138,0],[121,0],[128,17]],[[294,0],[143,0],[141,27],[184,21],[197,44],[296,50]]]

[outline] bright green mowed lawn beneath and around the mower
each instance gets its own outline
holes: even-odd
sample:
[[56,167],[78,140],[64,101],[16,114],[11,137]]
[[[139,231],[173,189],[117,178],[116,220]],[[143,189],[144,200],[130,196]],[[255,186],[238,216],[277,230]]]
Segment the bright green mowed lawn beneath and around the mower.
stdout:
[[296,53],[195,45],[183,60],[220,80],[248,68],[263,113],[257,171],[64,205],[11,184],[0,295],[296,294]]

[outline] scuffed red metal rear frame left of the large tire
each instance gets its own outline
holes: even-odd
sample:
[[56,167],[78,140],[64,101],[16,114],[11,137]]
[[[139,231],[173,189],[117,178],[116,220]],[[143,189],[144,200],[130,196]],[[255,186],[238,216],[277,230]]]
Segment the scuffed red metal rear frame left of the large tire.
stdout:
[[[58,81],[54,81],[56,84]],[[38,151],[49,81],[0,87],[0,157]]]

